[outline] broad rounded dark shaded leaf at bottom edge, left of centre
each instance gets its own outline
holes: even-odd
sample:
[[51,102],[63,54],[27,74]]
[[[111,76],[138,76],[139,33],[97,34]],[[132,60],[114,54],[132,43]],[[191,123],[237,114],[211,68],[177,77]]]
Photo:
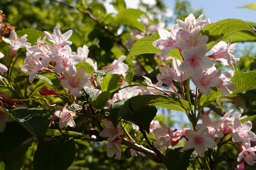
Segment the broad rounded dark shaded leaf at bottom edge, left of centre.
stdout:
[[66,170],[75,160],[73,138],[58,138],[43,141],[34,154],[36,170]]

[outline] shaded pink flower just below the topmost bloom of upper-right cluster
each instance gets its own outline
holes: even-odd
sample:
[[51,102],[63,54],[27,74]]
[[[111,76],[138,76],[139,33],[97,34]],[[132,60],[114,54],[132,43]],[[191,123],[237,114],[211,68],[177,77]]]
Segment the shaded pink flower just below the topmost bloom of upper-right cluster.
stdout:
[[184,50],[190,47],[195,47],[196,45],[206,44],[206,42],[208,41],[208,36],[200,36],[200,33],[201,32],[198,27],[191,30],[191,32],[181,30],[179,34],[179,38],[181,40],[181,42],[179,43],[179,48]]

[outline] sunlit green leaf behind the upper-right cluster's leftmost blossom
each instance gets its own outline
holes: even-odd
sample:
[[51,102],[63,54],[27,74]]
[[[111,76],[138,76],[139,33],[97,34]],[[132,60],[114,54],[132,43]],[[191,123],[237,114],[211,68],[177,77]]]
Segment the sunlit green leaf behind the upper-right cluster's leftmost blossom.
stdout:
[[[131,47],[131,51],[129,55],[127,56],[127,61],[135,56],[140,54],[146,54],[146,53],[161,53],[161,49],[158,49],[154,47],[153,42],[155,40],[158,40],[160,37],[157,36],[151,36],[151,37],[144,37],[138,40],[133,44]],[[178,59],[180,61],[183,61],[181,58],[181,55],[177,49],[172,49],[167,55],[174,57],[175,59]]]

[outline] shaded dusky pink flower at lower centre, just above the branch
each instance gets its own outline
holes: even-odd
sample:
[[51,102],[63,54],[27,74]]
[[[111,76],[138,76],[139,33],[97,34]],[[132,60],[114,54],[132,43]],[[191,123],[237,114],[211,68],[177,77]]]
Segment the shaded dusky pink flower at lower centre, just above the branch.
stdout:
[[111,121],[108,121],[107,119],[103,120],[103,125],[105,126],[105,128],[101,132],[99,132],[99,135],[101,137],[108,137],[107,141],[112,142],[118,136],[123,135],[122,129],[120,127],[120,122],[117,125],[116,129],[113,126],[113,123]]

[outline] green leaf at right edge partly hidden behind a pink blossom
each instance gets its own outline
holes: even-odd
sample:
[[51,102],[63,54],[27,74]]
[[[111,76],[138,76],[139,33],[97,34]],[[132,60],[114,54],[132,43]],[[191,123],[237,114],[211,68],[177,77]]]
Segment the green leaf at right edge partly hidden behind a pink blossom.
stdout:
[[[236,84],[236,90],[233,91],[232,95],[242,93],[251,89],[256,89],[256,71],[238,73],[237,75],[232,77],[231,81]],[[225,96],[222,95],[222,93],[220,93],[217,88],[212,88],[210,91],[210,95],[202,94],[202,96],[198,99],[196,103],[196,105],[198,106],[198,111],[201,112],[204,107],[220,97]]]

